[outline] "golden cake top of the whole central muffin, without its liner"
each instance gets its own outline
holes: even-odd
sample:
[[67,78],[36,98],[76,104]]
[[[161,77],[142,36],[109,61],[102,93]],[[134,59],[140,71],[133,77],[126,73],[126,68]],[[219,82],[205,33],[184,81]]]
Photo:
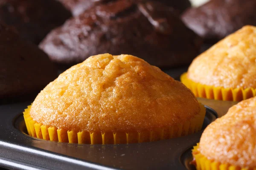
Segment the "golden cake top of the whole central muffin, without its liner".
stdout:
[[100,54],[62,73],[36,97],[30,115],[66,130],[150,130],[198,115],[192,92],[143,59]]

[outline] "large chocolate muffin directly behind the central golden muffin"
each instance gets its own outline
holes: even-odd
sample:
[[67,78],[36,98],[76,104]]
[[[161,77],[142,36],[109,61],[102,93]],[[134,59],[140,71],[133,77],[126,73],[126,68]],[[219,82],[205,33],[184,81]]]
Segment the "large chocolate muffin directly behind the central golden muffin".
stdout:
[[140,56],[162,68],[189,64],[200,46],[201,38],[171,7],[129,0],[93,7],[51,31],[40,44],[61,65],[108,52]]

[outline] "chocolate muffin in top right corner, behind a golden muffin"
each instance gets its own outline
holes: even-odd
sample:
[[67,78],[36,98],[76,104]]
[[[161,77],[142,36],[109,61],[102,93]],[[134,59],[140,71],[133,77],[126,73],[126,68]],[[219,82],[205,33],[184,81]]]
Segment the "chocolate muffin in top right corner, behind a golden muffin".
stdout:
[[211,0],[189,8],[182,20],[206,42],[216,42],[242,26],[256,26],[255,8],[255,0]]

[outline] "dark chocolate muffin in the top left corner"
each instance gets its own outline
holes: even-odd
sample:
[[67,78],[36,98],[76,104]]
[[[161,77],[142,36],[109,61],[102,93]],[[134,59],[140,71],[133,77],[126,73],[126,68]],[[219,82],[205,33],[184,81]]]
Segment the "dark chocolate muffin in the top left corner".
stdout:
[[14,26],[21,38],[35,44],[69,17],[70,12],[55,0],[0,1],[0,21]]

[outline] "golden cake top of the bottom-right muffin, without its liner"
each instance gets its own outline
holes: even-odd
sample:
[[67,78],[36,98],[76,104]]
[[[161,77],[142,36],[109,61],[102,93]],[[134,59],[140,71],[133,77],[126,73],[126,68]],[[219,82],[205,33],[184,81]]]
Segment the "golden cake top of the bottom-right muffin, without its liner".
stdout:
[[244,100],[212,122],[199,144],[209,160],[239,167],[256,167],[256,97]]

